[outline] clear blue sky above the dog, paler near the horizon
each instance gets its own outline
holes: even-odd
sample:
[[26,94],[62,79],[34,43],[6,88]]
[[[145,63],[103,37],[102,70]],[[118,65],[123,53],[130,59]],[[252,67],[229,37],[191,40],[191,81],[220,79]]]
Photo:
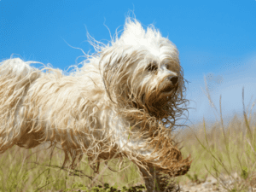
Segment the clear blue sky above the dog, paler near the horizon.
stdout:
[[68,44],[93,53],[86,32],[106,43],[110,40],[106,26],[111,34],[121,29],[129,10],[177,45],[189,81],[187,98],[193,101],[189,107],[195,108],[189,109],[191,122],[215,119],[202,91],[204,77],[217,108],[222,96],[225,119],[241,113],[243,86],[245,103],[255,101],[255,0],[0,0],[0,60],[16,54],[67,69],[83,55]]

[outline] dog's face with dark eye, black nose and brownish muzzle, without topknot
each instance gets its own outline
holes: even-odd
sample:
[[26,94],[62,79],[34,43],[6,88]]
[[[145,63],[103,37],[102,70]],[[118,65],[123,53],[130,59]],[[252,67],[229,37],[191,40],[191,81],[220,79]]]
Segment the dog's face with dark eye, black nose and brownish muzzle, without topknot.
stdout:
[[[172,46],[169,49],[173,51]],[[131,66],[131,77],[127,80],[131,91],[128,94],[135,108],[145,109],[151,115],[165,118],[170,116],[170,109],[173,109],[177,96],[182,92],[181,67],[177,58],[173,59],[172,55],[153,55],[149,51],[146,53],[142,61]],[[161,56],[165,59],[161,60]]]

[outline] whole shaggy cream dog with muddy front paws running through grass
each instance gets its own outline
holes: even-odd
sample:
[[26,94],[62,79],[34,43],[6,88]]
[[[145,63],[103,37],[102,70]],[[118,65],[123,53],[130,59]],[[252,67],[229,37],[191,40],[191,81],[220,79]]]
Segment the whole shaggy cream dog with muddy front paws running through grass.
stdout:
[[93,163],[128,157],[148,191],[153,174],[161,188],[166,183],[160,173],[188,172],[191,161],[171,138],[187,102],[176,46],[154,26],[144,30],[131,18],[109,44],[93,38],[90,44],[96,54],[86,55],[83,67],[68,76],[19,58],[1,62],[0,151],[58,143],[63,166],[70,155],[73,167],[82,154]]

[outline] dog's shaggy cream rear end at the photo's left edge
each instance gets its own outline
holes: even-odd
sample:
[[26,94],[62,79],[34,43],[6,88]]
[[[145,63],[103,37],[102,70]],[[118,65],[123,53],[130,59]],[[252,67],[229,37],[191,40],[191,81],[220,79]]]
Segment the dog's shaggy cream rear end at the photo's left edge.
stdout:
[[42,74],[31,63],[20,58],[0,63],[0,153],[22,137],[19,110],[29,86]]

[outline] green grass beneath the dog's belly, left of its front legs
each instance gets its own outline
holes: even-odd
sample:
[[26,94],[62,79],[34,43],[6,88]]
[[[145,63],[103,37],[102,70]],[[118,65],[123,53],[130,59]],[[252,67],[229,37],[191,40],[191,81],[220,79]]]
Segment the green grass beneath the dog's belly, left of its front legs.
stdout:
[[[78,186],[96,186],[109,183],[110,186],[128,188],[141,182],[137,167],[131,164],[122,172],[111,172],[108,169],[92,183],[89,177],[96,177],[86,158],[79,165],[82,172],[72,170],[61,170],[64,153],[55,148],[50,159],[50,149],[32,148],[25,149],[10,148],[0,156],[0,191],[58,191],[64,189],[76,189]],[[128,161],[128,160],[126,160]],[[50,163],[49,163],[50,162]],[[111,168],[118,170],[115,160],[108,163]],[[100,166],[100,171],[105,164]],[[124,166],[128,166],[125,163]],[[73,176],[75,173],[77,176]],[[87,177],[89,176],[89,177]]]

